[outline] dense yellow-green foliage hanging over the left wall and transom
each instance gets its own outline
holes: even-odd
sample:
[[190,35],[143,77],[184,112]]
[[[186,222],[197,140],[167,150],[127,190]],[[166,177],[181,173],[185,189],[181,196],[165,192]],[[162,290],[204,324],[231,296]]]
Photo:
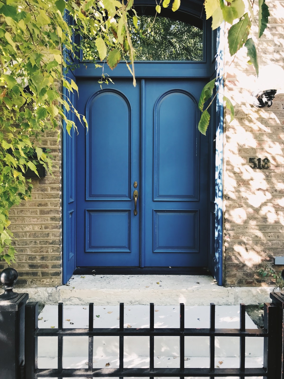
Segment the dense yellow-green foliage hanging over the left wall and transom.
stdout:
[[74,34],[95,36],[100,60],[111,69],[125,52],[133,63],[127,26],[132,5],[133,0],[0,0],[0,260],[15,259],[9,211],[31,197],[25,172],[37,174],[43,164],[51,173],[52,157],[39,147],[41,136],[57,131],[59,138],[61,127],[70,134],[76,128],[72,112],[86,125],[62,95],[62,86],[78,91],[64,75],[79,51]]

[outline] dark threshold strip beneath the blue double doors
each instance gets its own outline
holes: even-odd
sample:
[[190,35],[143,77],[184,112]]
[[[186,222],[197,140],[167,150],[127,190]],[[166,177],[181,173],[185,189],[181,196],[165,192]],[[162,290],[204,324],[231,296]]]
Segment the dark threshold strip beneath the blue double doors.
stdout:
[[170,274],[170,275],[211,275],[206,267],[77,267],[74,275],[94,274]]

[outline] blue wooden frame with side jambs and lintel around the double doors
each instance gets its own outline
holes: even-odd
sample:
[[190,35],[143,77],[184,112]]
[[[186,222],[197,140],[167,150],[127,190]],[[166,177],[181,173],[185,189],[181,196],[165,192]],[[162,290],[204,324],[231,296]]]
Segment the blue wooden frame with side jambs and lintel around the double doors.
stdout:
[[[137,0],[137,5],[138,5]],[[144,0],[139,1],[143,5]],[[200,15],[200,1],[188,1],[181,6],[181,11]],[[193,8],[194,5],[194,8]],[[198,9],[197,9],[198,8]],[[195,11],[192,11],[195,9]],[[204,19],[205,22],[205,19]],[[204,62],[186,63],[176,62],[176,78],[204,78],[208,81],[223,71],[223,30],[219,28],[217,33],[211,32],[210,23],[206,22],[206,40],[204,41],[206,57]],[[205,30],[204,30],[205,31]],[[129,71],[125,63],[120,63],[113,72],[109,72],[112,78],[129,78]],[[167,78],[173,77],[173,64],[169,62],[136,63],[137,78]],[[110,70],[109,70],[110,71]],[[79,68],[69,71],[67,76],[76,81],[78,77],[99,77],[100,72],[92,63],[79,63]],[[217,83],[222,89],[223,82]],[[64,96],[67,91],[64,88]],[[72,94],[71,102],[76,108],[76,96]],[[223,100],[218,95],[215,101],[215,110],[212,109],[212,125],[210,127],[209,164],[208,175],[211,183],[208,202],[210,209],[208,238],[209,270],[215,277],[218,285],[222,285],[223,276]],[[213,108],[213,107],[212,107]],[[67,115],[68,116],[68,115]],[[142,136],[143,137],[143,136]],[[215,138],[214,138],[215,137]],[[214,149],[214,140],[216,147]],[[145,141],[141,141],[142,146]],[[63,283],[66,283],[76,268],[76,136],[70,137],[66,128],[62,132],[62,271]],[[215,167],[214,167],[215,166]],[[215,168],[215,170],[214,170]],[[143,223],[143,219],[142,219]]]

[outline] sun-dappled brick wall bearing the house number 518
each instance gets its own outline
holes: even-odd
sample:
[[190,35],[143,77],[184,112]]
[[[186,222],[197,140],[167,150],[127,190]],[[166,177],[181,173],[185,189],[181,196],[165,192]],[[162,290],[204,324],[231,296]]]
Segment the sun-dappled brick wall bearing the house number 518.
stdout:
[[[259,64],[284,67],[284,1],[267,5],[271,17],[258,45]],[[257,28],[252,30],[256,36]],[[228,67],[227,48],[225,58]],[[239,286],[272,284],[257,269],[284,255],[284,94],[276,95],[269,110],[251,108],[255,74],[247,61],[243,48],[227,68],[225,89],[236,104],[234,121],[229,124],[227,117],[225,123],[225,284]],[[252,169],[250,157],[268,158],[270,169]]]

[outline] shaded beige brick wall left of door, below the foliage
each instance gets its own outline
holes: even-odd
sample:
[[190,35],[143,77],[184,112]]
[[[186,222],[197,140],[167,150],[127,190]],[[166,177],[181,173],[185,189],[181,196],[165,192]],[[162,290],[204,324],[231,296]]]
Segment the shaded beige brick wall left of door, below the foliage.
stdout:
[[[42,147],[54,157],[53,176],[32,179],[32,200],[11,210],[19,273],[17,284],[55,286],[62,283],[61,269],[61,147],[57,133],[46,133]],[[7,265],[0,263],[0,268]]]

